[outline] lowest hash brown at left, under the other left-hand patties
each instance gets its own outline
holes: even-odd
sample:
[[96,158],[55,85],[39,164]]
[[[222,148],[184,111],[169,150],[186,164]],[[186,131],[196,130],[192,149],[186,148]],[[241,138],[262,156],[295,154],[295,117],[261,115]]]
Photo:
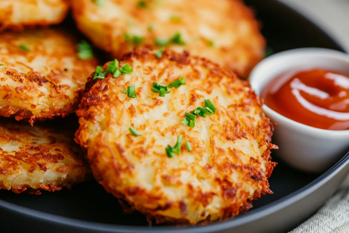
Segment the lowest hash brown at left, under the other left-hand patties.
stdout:
[[0,189],[57,191],[83,181],[90,172],[71,130],[0,120]]

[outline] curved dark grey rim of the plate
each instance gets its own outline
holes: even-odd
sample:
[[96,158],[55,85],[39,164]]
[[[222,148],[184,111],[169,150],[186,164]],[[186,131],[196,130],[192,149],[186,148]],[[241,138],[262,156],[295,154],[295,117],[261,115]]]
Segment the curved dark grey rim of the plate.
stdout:
[[[314,27],[320,29],[327,35],[329,39],[342,51],[347,52],[344,49],[342,43],[334,36],[333,32],[328,28],[321,26],[321,24],[305,13],[303,10],[300,10],[294,4],[285,3],[284,1],[278,0],[282,5],[292,9],[295,14],[298,14],[304,17],[307,21],[313,24]],[[325,184],[328,180],[330,180],[333,176],[335,176],[342,168],[344,168],[349,163],[349,152],[343,156],[343,158],[337,162],[333,167],[328,169],[324,174],[320,175],[317,179],[313,180],[309,184],[304,187],[298,189],[291,194],[280,198],[279,200],[269,203],[265,206],[262,206],[256,210],[251,210],[245,214],[237,216],[233,219],[229,219],[223,222],[216,222],[206,226],[166,226],[166,227],[144,227],[144,226],[124,226],[124,225],[116,225],[116,224],[104,224],[104,223],[95,223],[89,222],[85,220],[73,219],[58,216],[55,214],[44,213],[37,210],[32,210],[27,207],[23,207],[20,205],[12,204],[3,200],[0,200],[0,207],[3,209],[7,209],[9,211],[17,212],[18,214],[22,214],[28,217],[37,218],[42,221],[49,221],[55,224],[60,225],[68,225],[72,228],[81,228],[86,230],[94,230],[94,231],[104,231],[104,232],[118,232],[118,233],[151,233],[156,230],[157,233],[168,233],[168,232],[180,232],[180,233],[208,233],[214,231],[222,231],[232,227],[237,227],[244,225],[253,220],[260,219],[269,214],[272,214],[278,210],[283,209],[284,207],[291,205],[307,196],[314,190],[321,187],[321,185]]]

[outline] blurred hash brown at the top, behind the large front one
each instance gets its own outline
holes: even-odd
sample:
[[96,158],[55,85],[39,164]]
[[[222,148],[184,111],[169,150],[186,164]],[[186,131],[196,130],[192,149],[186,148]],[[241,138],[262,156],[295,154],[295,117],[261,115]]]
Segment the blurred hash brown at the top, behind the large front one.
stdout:
[[[164,46],[156,43],[161,39],[247,78],[265,53],[259,23],[242,0],[74,0],[72,8],[77,27],[116,57],[135,45]],[[177,33],[180,39],[173,38]]]

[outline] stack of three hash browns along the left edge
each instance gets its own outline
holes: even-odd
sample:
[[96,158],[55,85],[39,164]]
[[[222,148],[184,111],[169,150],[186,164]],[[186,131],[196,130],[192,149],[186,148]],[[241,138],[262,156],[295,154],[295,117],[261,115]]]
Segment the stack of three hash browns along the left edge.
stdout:
[[[25,18],[17,8],[22,2],[0,3],[0,8],[13,9],[11,17],[1,18],[3,27],[29,21],[36,24],[36,20],[42,22],[40,13],[47,15],[42,1],[32,1],[40,4],[30,8],[36,12],[28,15],[31,20]],[[66,10],[54,8],[52,12],[65,15]],[[47,23],[56,22],[53,17]],[[32,126],[37,120],[74,113],[87,77],[97,65],[92,51],[79,53],[77,46],[74,36],[58,29],[0,32],[0,189],[38,194],[86,179],[90,168],[74,142],[72,129]]]

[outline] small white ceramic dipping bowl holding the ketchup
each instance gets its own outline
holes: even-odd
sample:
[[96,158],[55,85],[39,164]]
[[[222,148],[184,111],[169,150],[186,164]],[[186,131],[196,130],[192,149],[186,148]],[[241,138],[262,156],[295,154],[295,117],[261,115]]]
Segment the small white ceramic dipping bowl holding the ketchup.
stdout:
[[[326,69],[349,74],[349,55],[321,48],[293,49],[261,61],[250,74],[252,89],[261,94],[278,75],[293,70]],[[349,130],[324,130],[295,122],[270,109],[263,111],[275,125],[273,143],[277,155],[290,165],[308,172],[322,172],[339,161],[349,149]]]

